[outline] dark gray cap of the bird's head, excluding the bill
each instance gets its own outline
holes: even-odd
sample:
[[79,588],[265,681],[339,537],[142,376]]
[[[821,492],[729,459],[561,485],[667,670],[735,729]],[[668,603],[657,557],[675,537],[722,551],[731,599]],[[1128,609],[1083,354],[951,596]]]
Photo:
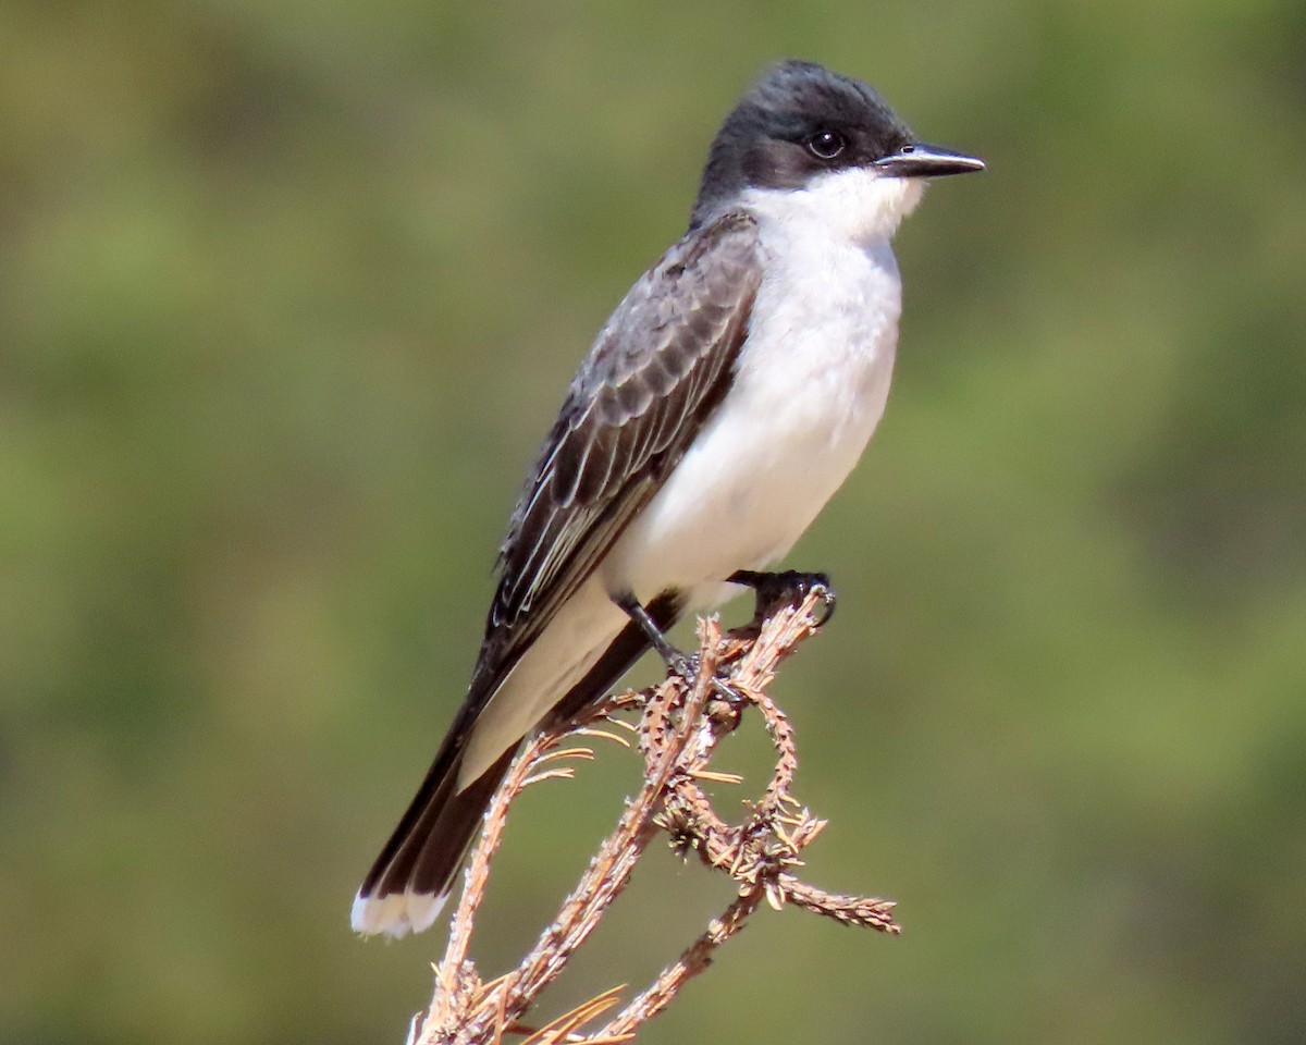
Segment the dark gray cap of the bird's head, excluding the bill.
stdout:
[[[810,145],[821,135],[840,136],[845,148],[821,157]],[[861,80],[812,61],[782,61],[761,76],[717,132],[691,227],[744,188],[799,188],[815,174],[866,166],[910,141],[906,124]]]

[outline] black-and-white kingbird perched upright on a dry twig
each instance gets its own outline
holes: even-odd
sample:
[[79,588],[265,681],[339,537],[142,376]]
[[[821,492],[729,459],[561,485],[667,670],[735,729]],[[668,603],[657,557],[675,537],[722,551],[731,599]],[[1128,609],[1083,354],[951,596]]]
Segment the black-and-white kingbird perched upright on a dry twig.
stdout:
[[402,937],[447,900],[521,742],[601,700],[688,610],[823,575],[768,572],[884,411],[925,183],[983,170],[867,84],[768,68],[708,152],[688,230],[594,340],[512,512],[466,698],[358,890]]

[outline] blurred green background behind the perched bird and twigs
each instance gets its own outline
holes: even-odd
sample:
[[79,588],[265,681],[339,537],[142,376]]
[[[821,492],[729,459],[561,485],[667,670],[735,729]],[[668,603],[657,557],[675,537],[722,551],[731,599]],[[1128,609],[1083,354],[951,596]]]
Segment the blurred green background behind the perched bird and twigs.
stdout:
[[[573,367],[794,55],[990,163],[899,236],[889,410],[791,560],[840,614],[776,687],[811,879],[905,934],[763,909],[643,1040],[1302,1041],[1303,40],[1288,0],[0,7],[0,1040],[402,1040],[441,940],[350,897]],[[512,823],[487,973],[633,760],[581,777]],[[726,893],[657,854],[552,1011]]]

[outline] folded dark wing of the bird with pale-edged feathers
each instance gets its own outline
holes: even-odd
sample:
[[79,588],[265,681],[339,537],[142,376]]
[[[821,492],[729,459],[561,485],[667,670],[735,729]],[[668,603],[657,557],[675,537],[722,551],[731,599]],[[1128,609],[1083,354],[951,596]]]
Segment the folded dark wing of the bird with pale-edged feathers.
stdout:
[[513,511],[478,682],[502,679],[680,460],[729,387],[760,280],[756,223],[726,214],[618,306]]

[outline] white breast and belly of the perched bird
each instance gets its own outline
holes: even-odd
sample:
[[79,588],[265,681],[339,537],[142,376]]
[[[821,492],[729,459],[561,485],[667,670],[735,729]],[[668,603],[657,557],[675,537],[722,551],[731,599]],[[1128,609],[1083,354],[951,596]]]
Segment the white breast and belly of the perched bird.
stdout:
[[[678,588],[701,603],[735,570],[773,563],[884,413],[901,311],[888,236],[850,235],[810,206],[810,192],[750,200],[767,272],[734,383],[603,564],[607,590],[648,600]],[[835,221],[849,217],[842,208]]]

